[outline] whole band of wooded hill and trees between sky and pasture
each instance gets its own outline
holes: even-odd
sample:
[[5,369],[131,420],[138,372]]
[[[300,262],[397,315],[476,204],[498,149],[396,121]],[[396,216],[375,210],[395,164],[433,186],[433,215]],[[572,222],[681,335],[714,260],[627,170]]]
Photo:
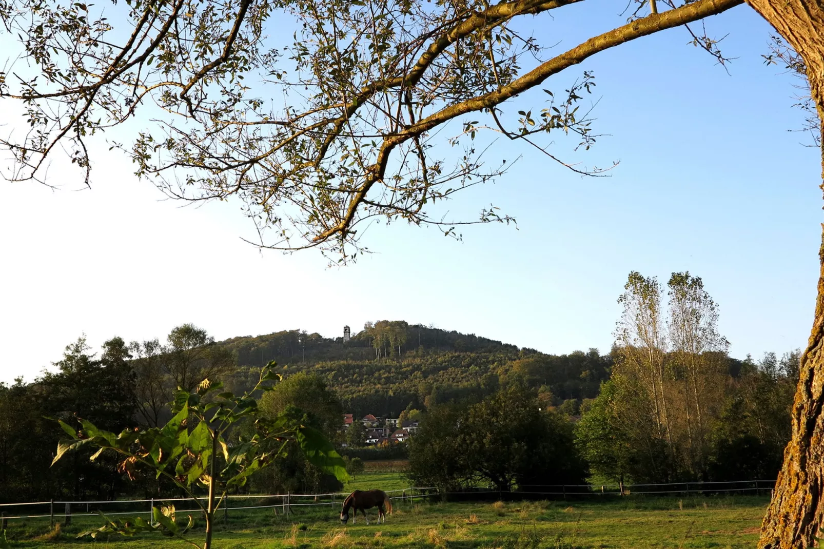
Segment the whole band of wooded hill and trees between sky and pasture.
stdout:
[[[49,467],[62,437],[55,419],[151,429],[171,418],[181,380],[208,377],[241,394],[272,360],[283,381],[260,397],[267,417],[310,425],[353,458],[344,413],[411,416],[418,431],[386,451],[409,456],[410,481],[443,490],[775,478],[799,351],[733,359],[703,281],[675,273],[666,289],[630,274],[609,354],[544,354],[405,321],[368,323],[349,341],[295,330],[218,342],[185,324],[165,341],[113,337],[95,353],[81,337],[35,381],[0,384],[0,500],[180,495],[139,468],[125,475],[106,453],[91,462],[81,449]],[[224,436],[237,441],[249,429]],[[342,488],[287,452],[235,490]]]

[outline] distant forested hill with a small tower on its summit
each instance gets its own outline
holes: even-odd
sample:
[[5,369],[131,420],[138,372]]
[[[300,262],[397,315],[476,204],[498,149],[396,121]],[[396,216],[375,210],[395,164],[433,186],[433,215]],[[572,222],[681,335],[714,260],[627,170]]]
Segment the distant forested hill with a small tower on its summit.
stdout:
[[355,415],[397,417],[406,408],[481,398],[512,377],[539,388],[547,404],[560,406],[596,397],[611,368],[611,357],[597,350],[543,354],[405,321],[368,324],[347,342],[294,330],[219,345],[236,353],[238,388],[254,377],[253,368],[274,360],[286,373],[319,374]]

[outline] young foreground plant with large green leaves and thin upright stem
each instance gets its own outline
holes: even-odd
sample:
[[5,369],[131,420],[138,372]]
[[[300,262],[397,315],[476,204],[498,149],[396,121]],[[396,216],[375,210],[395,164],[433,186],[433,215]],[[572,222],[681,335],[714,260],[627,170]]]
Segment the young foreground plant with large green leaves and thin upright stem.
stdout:
[[[175,415],[162,427],[125,429],[115,434],[98,429],[82,418],[77,419],[79,429],[60,421],[71,439],[60,441],[54,462],[67,452],[86,445],[98,448],[91,460],[106,451],[119,453],[123,458],[119,462],[120,472],[133,478],[138,468],[144,467],[154,471],[157,477],[166,476],[194,500],[203,511],[206,523],[202,545],[185,535],[192,528],[194,517],[189,516],[188,524],[180,526],[172,506],[152,509],[151,522],[141,518],[110,519],[103,515],[106,523],[101,528],[81,536],[96,537],[100,533],[133,536],[160,532],[180,537],[194,547],[209,549],[214,514],[224,503],[228,490],[245,485],[249,476],[272,465],[290,443],[297,444],[307,459],[323,471],[335,475],[340,481],[348,480],[343,459],[320,431],[283,414],[270,418],[260,413],[253,395],[271,390],[270,382],[281,379],[270,369],[272,367],[274,363],[270,362],[261,371],[260,380],[252,391],[242,396],[219,392],[222,384],[208,379],[200,382],[194,392],[177,391],[172,402]],[[233,427],[241,421],[253,423],[253,434],[230,439]]]

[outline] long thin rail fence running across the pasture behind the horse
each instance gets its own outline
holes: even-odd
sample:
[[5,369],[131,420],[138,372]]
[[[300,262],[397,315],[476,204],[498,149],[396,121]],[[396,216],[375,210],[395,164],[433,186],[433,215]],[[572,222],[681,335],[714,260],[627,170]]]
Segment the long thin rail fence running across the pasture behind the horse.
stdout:
[[[516,491],[501,491],[492,487],[476,487],[460,492],[442,492],[431,486],[410,486],[402,490],[386,490],[391,500],[411,501],[420,498],[429,498],[434,495],[452,496],[456,499],[468,499],[473,496],[497,496],[498,498],[525,498],[535,496],[561,496],[564,499],[579,496],[631,496],[631,495],[680,495],[680,494],[729,494],[729,493],[756,493],[769,494],[775,487],[775,481],[708,481],[708,482],[667,482],[660,484],[604,484],[604,485],[524,485]],[[334,492],[326,494],[250,494],[227,495],[221,500],[218,512],[222,511],[224,521],[230,511],[247,509],[273,509],[280,511],[287,517],[294,514],[293,508],[325,507],[342,504],[349,492]],[[45,519],[49,518],[52,526],[55,520],[63,517],[63,523],[70,523],[73,517],[96,516],[98,512],[107,515],[142,515],[152,518],[152,507],[156,504],[190,502],[206,500],[207,496],[197,498],[157,498],[148,500],[90,500],[90,501],[30,501],[23,503],[0,504],[0,527],[5,527],[8,520]],[[311,501],[309,500],[311,499]],[[246,501],[241,501],[246,500]],[[232,504],[236,503],[236,504]],[[139,507],[138,507],[139,504]],[[146,505],[148,504],[148,505]],[[21,513],[21,507],[30,509],[40,505],[40,509],[33,509],[33,513]],[[60,508],[58,507],[60,506]],[[83,507],[85,506],[85,509]],[[177,509],[179,513],[200,513],[196,505],[194,509]],[[188,506],[187,506],[188,507]],[[141,509],[142,508],[142,509]],[[128,510],[126,510],[128,509]],[[9,514],[8,511],[17,511]]]

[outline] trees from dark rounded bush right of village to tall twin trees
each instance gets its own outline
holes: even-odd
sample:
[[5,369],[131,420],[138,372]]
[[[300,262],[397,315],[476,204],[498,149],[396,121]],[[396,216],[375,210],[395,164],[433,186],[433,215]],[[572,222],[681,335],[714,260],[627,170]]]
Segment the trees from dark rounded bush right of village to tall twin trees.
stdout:
[[[478,483],[529,490],[585,478],[775,479],[790,438],[800,352],[730,359],[718,306],[689,273],[674,273],[666,295],[654,277],[630,273],[619,303],[610,368],[597,370],[595,354],[587,363],[595,369],[568,371],[557,364],[569,359],[519,359],[497,392],[428,407],[410,440],[414,480],[446,490]],[[593,380],[608,373],[597,397],[558,405],[559,379],[582,370]]]

